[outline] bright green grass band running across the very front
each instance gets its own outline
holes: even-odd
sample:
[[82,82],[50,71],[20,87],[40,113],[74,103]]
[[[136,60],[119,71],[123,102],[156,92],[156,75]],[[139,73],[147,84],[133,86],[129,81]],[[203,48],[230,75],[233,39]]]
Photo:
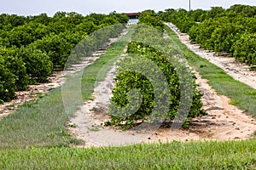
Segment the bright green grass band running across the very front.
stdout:
[[255,169],[256,140],[0,151],[1,169]]

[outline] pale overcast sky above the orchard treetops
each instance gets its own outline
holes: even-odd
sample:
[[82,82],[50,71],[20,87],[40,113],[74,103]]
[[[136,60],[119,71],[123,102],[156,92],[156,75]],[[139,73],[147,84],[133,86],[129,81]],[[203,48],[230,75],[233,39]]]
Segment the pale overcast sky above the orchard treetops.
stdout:
[[[166,8],[189,9],[189,0],[0,0],[0,14],[49,16],[57,11],[77,12],[79,14],[139,12],[144,9],[155,11]],[[255,5],[256,0],[191,0],[191,8],[209,9],[213,6],[229,8],[233,4]]]

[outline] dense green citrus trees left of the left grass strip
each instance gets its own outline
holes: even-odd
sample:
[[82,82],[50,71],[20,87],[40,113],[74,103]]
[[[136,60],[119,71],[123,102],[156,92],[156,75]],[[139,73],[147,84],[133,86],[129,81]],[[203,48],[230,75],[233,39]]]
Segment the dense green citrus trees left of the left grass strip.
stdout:
[[123,26],[118,24],[127,21],[124,14],[114,12],[87,16],[58,12],[53,17],[1,14],[0,102],[14,99],[15,91],[29,84],[47,82],[53,70],[64,69],[77,44],[80,50],[76,48],[72,62],[119,35]]

